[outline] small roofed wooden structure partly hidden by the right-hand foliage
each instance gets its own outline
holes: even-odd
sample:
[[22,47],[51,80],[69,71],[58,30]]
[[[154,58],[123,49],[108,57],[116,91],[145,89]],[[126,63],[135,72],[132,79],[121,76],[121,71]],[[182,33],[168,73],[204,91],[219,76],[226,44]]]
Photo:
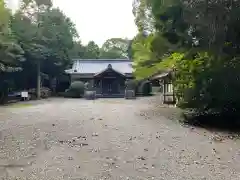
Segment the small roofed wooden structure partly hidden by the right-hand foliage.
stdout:
[[172,79],[173,71],[159,72],[150,78],[150,80],[158,80],[162,86],[163,104],[176,104]]

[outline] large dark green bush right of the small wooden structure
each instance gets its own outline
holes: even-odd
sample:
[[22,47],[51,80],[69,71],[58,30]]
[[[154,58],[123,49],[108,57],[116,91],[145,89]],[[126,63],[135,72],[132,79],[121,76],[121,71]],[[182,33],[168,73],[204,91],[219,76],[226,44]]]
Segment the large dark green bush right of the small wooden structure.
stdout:
[[239,58],[216,59],[209,53],[183,57],[175,64],[174,91],[178,106],[193,109],[187,122],[240,125]]

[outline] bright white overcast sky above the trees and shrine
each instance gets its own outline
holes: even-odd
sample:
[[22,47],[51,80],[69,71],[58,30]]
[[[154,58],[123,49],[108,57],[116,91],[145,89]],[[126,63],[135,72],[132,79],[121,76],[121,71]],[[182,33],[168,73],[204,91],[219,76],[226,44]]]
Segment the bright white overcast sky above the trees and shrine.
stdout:
[[[19,0],[6,0],[16,7]],[[83,44],[102,45],[109,38],[133,38],[137,33],[132,0],[53,0],[76,24]]]

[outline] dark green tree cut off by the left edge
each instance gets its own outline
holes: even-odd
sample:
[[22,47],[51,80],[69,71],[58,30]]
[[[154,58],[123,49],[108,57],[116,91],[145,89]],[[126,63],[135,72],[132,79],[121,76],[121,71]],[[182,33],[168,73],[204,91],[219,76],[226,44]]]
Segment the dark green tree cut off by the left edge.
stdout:
[[23,50],[17,44],[9,27],[10,11],[0,0],[0,103],[2,103],[12,86],[12,72],[21,70],[24,60]]

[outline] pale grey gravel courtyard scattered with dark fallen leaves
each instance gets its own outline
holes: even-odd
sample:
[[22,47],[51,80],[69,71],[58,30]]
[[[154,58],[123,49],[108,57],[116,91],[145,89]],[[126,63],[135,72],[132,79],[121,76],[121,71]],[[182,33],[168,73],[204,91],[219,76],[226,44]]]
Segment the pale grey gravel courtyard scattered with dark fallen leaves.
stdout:
[[1,180],[240,179],[239,140],[181,126],[156,97],[28,103],[0,108]]

